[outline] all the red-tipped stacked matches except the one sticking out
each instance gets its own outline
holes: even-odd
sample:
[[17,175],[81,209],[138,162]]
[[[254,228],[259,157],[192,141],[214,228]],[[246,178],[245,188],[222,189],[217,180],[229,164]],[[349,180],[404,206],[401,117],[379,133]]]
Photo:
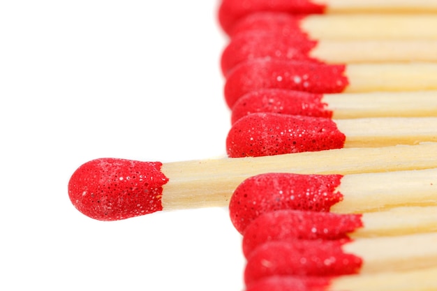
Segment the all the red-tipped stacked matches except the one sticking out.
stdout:
[[[222,1],[228,156],[437,142],[436,14],[315,2]],[[437,168],[412,167],[244,179],[229,209],[246,291],[437,290]]]

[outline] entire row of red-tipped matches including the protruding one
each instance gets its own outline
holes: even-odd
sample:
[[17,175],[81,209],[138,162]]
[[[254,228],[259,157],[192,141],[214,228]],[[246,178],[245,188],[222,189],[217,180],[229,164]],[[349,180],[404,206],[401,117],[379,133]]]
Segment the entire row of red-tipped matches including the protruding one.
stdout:
[[[263,10],[262,7],[267,2],[269,13],[254,13],[258,8]],[[293,6],[294,3],[300,9],[297,10],[299,13],[322,13],[339,9],[338,7],[330,9],[329,6],[320,4],[323,0],[317,0],[318,4],[314,4],[315,2],[316,0],[311,2],[224,0],[221,6],[221,18],[223,15],[228,18],[226,20],[228,24],[223,27],[232,36],[231,45],[234,40],[237,40],[236,34],[234,36],[230,33],[231,27],[236,27],[237,23],[244,23],[244,19],[267,14],[270,15],[269,17],[273,15],[292,17],[292,13],[283,14],[279,11],[272,13],[275,8]],[[434,279],[437,274],[434,263],[437,261],[435,251],[437,244],[434,237],[436,232],[434,207],[437,205],[435,186],[437,143],[432,138],[436,135],[427,131],[434,130],[436,125],[434,120],[437,116],[436,98],[432,91],[436,89],[434,86],[437,84],[436,68],[433,59],[420,59],[427,54],[432,55],[432,42],[437,39],[432,36],[436,27],[434,17],[426,13],[420,16],[410,13],[408,17],[402,15],[399,18],[397,14],[389,13],[390,8],[387,8],[386,4],[375,1],[348,0],[343,5],[339,5],[341,0],[332,0],[332,2],[340,7],[353,6],[351,3],[355,3],[355,6],[366,6],[366,3],[373,2],[387,14],[384,17],[376,15],[370,17],[369,14],[354,14],[350,17],[347,13],[311,14],[305,17],[301,15],[299,19],[294,18],[298,28],[305,29],[306,35],[309,35],[308,27],[311,26],[327,29],[336,25],[338,28],[332,31],[341,31],[341,27],[346,29],[353,27],[352,24],[356,19],[358,22],[361,21],[360,25],[364,23],[364,26],[355,25],[350,32],[350,35],[355,35],[365,30],[365,27],[369,27],[371,23],[376,23],[373,19],[375,21],[378,19],[380,23],[390,20],[389,24],[378,24],[381,27],[369,30],[373,31],[372,33],[380,32],[380,37],[376,40],[367,38],[366,43],[360,43],[356,38],[353,41],[332,38],[328,46],[334,47],[332,51],[336,52],[338,50],[336,45],[342,46],[343,43],[352,46],[355,43],[357,47],[378,45],[378,43],[382,43],[383,46],[399,43],[406,45],[407,50],[414,49],[415,54],[413,57],[406,57],[406,54],[397,47],[389,54],[393,56],[403,54],[404,59],[398,59],[396,64],[393,59],[390,59],[390,64],[383,59],[366,60],[362,63],[350,61],[346,58],[346,52],[340,50],[341,53],[338,55],[345,56],[345,63],[341,64],[341,59],[334,59],[332,64],[329,64],[329,59],[326,59],[323,54],[315,54],[320,47],[323,47],[322,41],[318,40],[322,36],[329,35],[327,31],[323,31],[320,36],[312,35],[310,45],[314,46],[299,49],[298,53],[303,54],[304,57],[297,61],[274,59],[273,55],[255,56],[251,52],[246,57],[255,56],[255,59],[246,59],[241,64],[232,64],[223,69],[226,77],[225,99],[232,107],[232,114],[236,112],[237,103],[249,94],[259,96],[270,94],[266,95],[269,96],[268,98],[261,98],[267,100],[267,103],[263,104],[277,107],[275,110],[281,112],[262,111],[252,114],[261,107],[242,109],[242,116],[247,115],[252,125],[247,125],[246,130],[237,130],[235,126],[242,123],[244,118],[235,117],[228,137],[227,149],[230,158],[174,163],[98,158],[84,163],[73,173],[68,183],[68,195],[73,205],[83,214],[102,221],[132,218],[162,210],[229,206],[232,222],[243,234],[244,253],[248,258],[245,272],[246,291],[437,290]],[[398,1],[385,1],[385,3],[389,2],[390,5],[394,5]],[[420,7],[424,6],[422,13],[437,11],[437,4],[433,3],[434,1],[420,2],[411,1],[408,6],[408,0],[399,0],[402,7],[394,10],[406,11],[408,7],[419,13]],[[237,13],[232,13],[233,9]],[[245,9],[249,9],[250,13],[245,13]],[[242,17],[245,14],[247,17]],[[348,18],[346,22],[345,17]],[[241,20],[235,21],[234,25],[234,20],[239,18]],[[276,19],[276,16],[273,18]],[[267,29],[273,24],[267,20],[267,22],[262,21],[260,25],[264,26],[263,29],[267,32],[262,33],[262,29],[258,29],[258,32],[253,35],[273,36],[274,31],[278,31],[274,28],[269,32]],[[329,25],[328,21],[331,22]],[[413,25],[413,22],[417,24]],[[255,22],[249,23],[249,27],[257,25]],[[398,34],[404,33],[403,31],[413,31],[410,33],[412,37],[386,39],[385,33],[393,29],[386,29],[384,32],[385,25],[399,27]],[[417,25],[421,28],[417,29]],[[413,28],[410,29],[411,27]],[[285,27],[283,33],[291,28]],[[239,33],[239,36],[243,34]],[[244,35],[249,37],[249,32]],[[414,40],[413,36],[415,36]],[[384,38],[384,41],[380,38]],[[266,47],[266,43],[263,44],[263,47]],[[408,44],[410,44],[409,48]],[[425,48],[424,50],[417,48],[416,45],[420,44]],[[238,46],[244,47],[244,45]],[[429,47],[431,50],[428,51]],[[290,52],[276,50],[274,55],[293,55],[293,50]],[[350,50],[357,49],[355,47]],[[357,55],[360,56],[364,52],[369,54],[373,51],[376,49],[362,50],[362,53]],[[287,54],[284,54],[285,52]],[[230,55],[235,56],[237,53]],[[224,58],[225,52],[223,52]],[[410,61],[421,62],[413,64]],[[293,70],[290,71],[288,68]],[[329,80],[334,82],[327,82]],[[292,87],[292,84],[299,86]],[[291,87],[282,87],[285,85]],[[310,91],[311,88],[314,90]],[[287,97],[288,94],[292,94],[292,97]],[[279,119],[292,115],[283,114],[287,113],[285,110],[287,106],[285,101],[283,103],[274,101],[277,96],[284,96],[290,101],[302,97],[303,101],[294,105],[299,111],[291,112],[295,114],[293,117],[295,119],[287,121],[289,124],[312,122],[318,126],[319,130],[312,130],[311,135],[301,139],[300,145],[296,145],[299,138],[311,130],[295,129],[296,135],[286,138],[283,135],[290,133],[289,128],[286,128],[286,130],[279,130],[279,135],[270,139],[271,130],[282,126],[279,124]],[[256,103],[250,101],[245,104],[244,107],[249,108],[249,105]],[[302,114],[309,116],[300,117]],[[262,123],[253,119],[258,115],[277,117],[277,119],[272,119],[270,123]],[[327,124],[320,125],[319,122],[322,121]],[[262,130],[267,128],[267,131],[253,127],[260,124],[264,124]],[[402,131],[401,128],[407,128],[407,131]],[[419,131],[418,128],[422,128],[423,131],[422,129]],[[378,130],[383,131],[381,133]],[[402,133],[397,130],[401,130]],[[249,133],[247,138],[245,131]],[[327,132],[328,135],[323,135],[322,146],[312,145],[309,150],[308,144],[316,144],[320,140],[313,137],[313,134],[319,132]],[[363,134],[369,132],[371,132],[369,137],[363,137]],[[334,137],[329,133],[335,133]],[[390,137],[387,138],[389,135]],[[254,139],[257,141],[254,142]],[[238,143],[240,140],[242,142]],[[283,143],[283,140],[286,140],[286,143]],[[422,141],[428,142],[420,143]],[[264,142],[267,143],[263,144]],[[283,149],[287,149],[286,152],[283,152]],[[284,179],[281,178],[281,174],[274,173],[286,175],[285,180],[288,183],[297,178],[299,181],[303,179],[306,182],[295,181],[290,188],[286,188],[288,186],[277,181],[277,179]],[[290,174],[290,177],[286,173]],[[330,182],[326,184],[327,179],[334,180],[329,180]],[[244,188],[248,189],[245,185],[250,185],[250,181],[256,181],[255,184],[262,189],[256,190],[253,186],[249,186],[250,191],[244,191]],[[325,188],[327,185],[335,186],[335,191],[323,190],[325,188],[320,190],[316,187],[316,181],[325,181],[325,184],[322,184]],[[275,188],[276,186],[281,188]],[[303,188],[305,191],[302,191]],[[297,215],[295,218],[291,215],[286,216],[288,218],[267,218],[267,223],[272,223],[271,225],[266,225],[266,222],[263,224],[259,220],[262,216],[279,217],[282,213],[291,211]],[[275,222],[275,219],[282,220]],[[290,221],[295,219],[298,222],[286,223],[285,219]],[[316,224],[317,221],[322,221],[322,224]],[[255,226],[257,224],[261,225],[258,230]],[[290,234],[295,237],[282,232],[274,234],[274,227],[284,225],[295,226],[282,227],[286,232],[294,230],[300,232]],[[253,227],[255,230],[250,231]],[[263,234],[267,235],[269,241],[263,241]],[[267,249],[267,254],[262,251],[263,248]],[[286,255],[286,248],[292,250],[290,256]],[[328,254],[327,248],[334,251],[340,249],[346,251],[346,254],[341,253],[340,257],[329,255],[325,258],[323,255]],[[297,249],[313,250],[315,253],[293,256]],[[410,253],[403,253],[407,249]],[[403,256],[400,256],[400,253]],[[276,255],[276,258],[269,258],[267,255]],[[344,256],[351,264],[348,267],[339,267],[336,262],[346,261],[337,259]],[[297,258],[298,265],[296,267],[296,264],[286,260],[282,261],[285,264],[279,265],[276,260],[278,258],[290,260]],[[305,269],[302,264],[306,262],[312,262],[316,269]],[[320,265],[325,266],[325,269],[322,268],[314,273],[314,270],[319,270]],[[340,273],[332,272],[334,269],[340,269]],[[296,273],[296,270],[299,272]]]

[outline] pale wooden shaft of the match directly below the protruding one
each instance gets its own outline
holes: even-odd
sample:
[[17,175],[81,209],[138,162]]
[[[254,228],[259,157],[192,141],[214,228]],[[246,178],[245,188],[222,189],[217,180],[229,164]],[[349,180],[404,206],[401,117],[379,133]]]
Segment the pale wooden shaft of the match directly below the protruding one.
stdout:
[[331,208],[336,213],[437,205],[437,168],[348,174],[336,190],[344,196],[343,201]]

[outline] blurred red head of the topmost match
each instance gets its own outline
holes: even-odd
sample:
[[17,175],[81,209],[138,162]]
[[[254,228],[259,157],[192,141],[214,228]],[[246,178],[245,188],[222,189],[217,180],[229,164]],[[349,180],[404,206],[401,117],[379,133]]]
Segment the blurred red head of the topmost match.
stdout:
[[218,8],[218,21],[223,31],[230,33],[232,26],[246,15],[270,11],[275,13],[312,14],[324,13],[325,5],[311,0],[223,0]]

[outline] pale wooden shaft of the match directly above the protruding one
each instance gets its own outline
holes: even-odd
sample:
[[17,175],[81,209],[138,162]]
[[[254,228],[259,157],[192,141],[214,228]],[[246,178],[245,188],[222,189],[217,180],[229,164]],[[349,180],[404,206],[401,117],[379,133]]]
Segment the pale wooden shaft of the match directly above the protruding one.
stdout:
[[437,117],[373,117],[334,120],[344,147],[386,147],[437,142]]

